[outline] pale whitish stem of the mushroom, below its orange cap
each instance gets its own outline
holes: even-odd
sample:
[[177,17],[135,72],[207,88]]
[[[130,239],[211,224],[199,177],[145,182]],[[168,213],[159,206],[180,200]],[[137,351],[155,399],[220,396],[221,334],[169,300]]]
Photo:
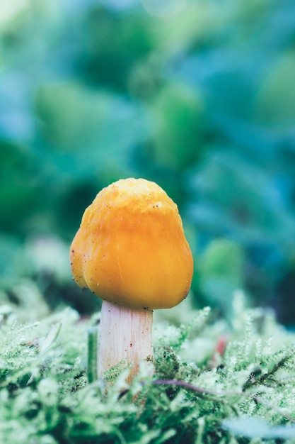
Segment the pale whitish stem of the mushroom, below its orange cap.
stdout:
[[[132,382],[141,361],[154,361],[151,327],[153,311],[132,309],[103,301],[98,344],[98,377],[120,362],[132,365],[127,382]],[[151,374],[154,366],[151,365]]]

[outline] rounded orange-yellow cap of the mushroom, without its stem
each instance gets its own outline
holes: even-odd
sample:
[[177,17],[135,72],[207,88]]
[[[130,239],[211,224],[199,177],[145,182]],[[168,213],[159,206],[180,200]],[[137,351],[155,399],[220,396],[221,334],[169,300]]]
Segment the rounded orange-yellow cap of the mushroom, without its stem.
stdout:
[[114,304],[168,309],[190,290],[192,252],[178,207],[146,179],[120,179],[98,193],[70,258],[79,287]]

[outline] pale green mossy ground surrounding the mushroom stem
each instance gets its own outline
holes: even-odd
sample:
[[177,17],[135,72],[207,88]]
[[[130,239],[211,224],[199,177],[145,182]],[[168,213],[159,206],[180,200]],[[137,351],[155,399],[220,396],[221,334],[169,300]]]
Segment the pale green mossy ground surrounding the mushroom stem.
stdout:
[[142,365],[128,387],[115,369],[106,387],[87,346],[99,313],[21,324],[2,306],[0,442],[295,443],[295,334],[241,294],[233,309],[231,322],[209,309],[180,309],[181,323],[157,313],[154,377]]

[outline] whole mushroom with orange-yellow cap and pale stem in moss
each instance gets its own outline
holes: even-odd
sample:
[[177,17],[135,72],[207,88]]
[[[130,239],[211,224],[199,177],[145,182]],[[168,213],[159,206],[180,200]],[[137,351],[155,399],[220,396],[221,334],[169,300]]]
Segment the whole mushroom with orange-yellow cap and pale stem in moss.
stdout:
[[121,179],[88,206],[71,243],[79,287],[103,299],[98,376],[122,360],[153,360],[154,309],[179,304],[190,290],[193,260],[176,204],[156,183]]

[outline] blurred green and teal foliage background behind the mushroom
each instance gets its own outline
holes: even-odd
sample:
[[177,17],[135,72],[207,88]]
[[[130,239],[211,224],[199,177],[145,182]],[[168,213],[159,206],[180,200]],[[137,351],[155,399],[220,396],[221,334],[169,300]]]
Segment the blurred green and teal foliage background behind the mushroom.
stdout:
[[4,0],[0,300],[99,306],[71,280],[84,209],[117,179],[178,204],[191,299],[236,289],[295,324],[294,0]]

